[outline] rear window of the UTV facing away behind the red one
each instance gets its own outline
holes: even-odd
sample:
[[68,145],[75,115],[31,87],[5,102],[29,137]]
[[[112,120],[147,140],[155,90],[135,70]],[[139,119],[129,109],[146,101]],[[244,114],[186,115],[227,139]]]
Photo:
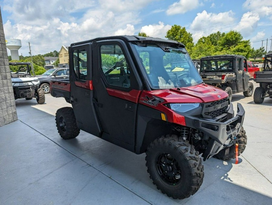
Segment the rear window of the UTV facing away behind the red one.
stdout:
[[199,72],[234,72],[233,59],[202,60]]

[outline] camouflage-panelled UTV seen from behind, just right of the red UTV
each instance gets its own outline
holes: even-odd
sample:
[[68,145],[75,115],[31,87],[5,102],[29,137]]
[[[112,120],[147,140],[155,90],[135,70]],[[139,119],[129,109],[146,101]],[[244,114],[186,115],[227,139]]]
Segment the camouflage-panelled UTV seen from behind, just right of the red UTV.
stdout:
[[204,83],[232,94],[243,92],[245,97],[253,94],[253,83],[249,82],[248,63],[244,56],[218,55],[200,59],[199,74]]

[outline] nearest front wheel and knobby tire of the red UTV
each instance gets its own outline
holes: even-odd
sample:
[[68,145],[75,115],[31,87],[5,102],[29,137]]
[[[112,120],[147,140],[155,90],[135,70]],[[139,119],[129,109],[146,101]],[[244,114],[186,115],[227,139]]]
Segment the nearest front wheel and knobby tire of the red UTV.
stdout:
[[195,194],[203,182],[204,168],[198,152],[176,135],[155,139],[147,148],[145,159],[153,184],[174,199]]

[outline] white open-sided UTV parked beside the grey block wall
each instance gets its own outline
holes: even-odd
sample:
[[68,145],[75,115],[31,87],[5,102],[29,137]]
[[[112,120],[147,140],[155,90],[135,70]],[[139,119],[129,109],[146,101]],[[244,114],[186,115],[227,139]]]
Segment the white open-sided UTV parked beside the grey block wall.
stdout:
[[[44,91],[39,88],[40,81],[35,76],[32,64],[29,62],[10,62],[9,65],[18,67],[17,72],[11,73],[15,100],[21,98],[31,100],[35,97],[39,104],[44,104]],[[31,75],[31,70],[34,76]]]

